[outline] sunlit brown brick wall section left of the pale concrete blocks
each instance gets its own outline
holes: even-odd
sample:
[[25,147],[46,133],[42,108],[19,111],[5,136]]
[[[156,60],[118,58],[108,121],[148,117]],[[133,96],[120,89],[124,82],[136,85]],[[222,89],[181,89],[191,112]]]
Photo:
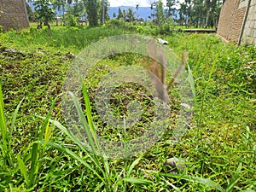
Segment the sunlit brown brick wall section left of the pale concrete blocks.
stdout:
[[242,23],[247,10],[247,0],[226,0],[218,20],[218,35],[223,38],[238,42]]

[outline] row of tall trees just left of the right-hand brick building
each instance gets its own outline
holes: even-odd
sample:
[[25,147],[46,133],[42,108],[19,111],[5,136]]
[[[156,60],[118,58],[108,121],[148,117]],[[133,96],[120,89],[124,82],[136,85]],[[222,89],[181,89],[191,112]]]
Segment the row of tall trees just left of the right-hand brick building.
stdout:
[[[163,26],[166,21],[174,21],[180,26],[217,26],[218,17],[222,6],[222,0],[167,0],[164,4],[161,0],[154,1],[151,15],[157,25]],[[178,15],[177,15],[178,13]]]

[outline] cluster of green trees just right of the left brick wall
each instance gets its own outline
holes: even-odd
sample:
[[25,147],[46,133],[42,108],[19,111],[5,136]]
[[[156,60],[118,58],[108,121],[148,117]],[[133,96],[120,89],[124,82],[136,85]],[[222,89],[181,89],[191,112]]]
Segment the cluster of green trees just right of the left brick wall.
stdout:
[[38,21],[38,26],[49,26],[49,21],[55,19],[56,10],[62,13],[61,19],[64,25],[77,25],[77,20],[86,18],[89,26],[103,25],[109,20],[108,0],[26,0],[32,2],[34,10],[27,4],[29,19]]

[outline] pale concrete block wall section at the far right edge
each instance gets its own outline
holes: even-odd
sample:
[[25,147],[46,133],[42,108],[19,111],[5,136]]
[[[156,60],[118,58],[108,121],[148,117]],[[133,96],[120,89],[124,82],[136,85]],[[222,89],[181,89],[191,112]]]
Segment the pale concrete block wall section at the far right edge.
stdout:
[[241,36],[241,44],[256,45],[256,0],[251,0],[247,19]]

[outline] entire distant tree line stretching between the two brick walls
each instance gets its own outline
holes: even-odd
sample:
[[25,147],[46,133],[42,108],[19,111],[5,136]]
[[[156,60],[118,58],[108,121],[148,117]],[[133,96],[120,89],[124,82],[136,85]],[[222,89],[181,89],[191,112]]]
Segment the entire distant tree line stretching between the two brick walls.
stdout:
[[[90,27],[104,25],[109,20],[108,0],[26,0],[33,2],[35,10],[27,6],[29,19],[38,21],[38,26],[49,26],[53,20],[56,10],[62,13],[61,19],[64,25],[77,26],[80,18],[86,18]],[[222,0],[185,0],[178,3],[178,0],[156,0],[151,3],[152,14],[149,19],[158,26],[170,26],[177,23],[180,26],[217,26]],[[139,5],[136,6],[136,10]],[[132,22],[137,20],[136,12],[131,8],[121,10],[113,18]]]

